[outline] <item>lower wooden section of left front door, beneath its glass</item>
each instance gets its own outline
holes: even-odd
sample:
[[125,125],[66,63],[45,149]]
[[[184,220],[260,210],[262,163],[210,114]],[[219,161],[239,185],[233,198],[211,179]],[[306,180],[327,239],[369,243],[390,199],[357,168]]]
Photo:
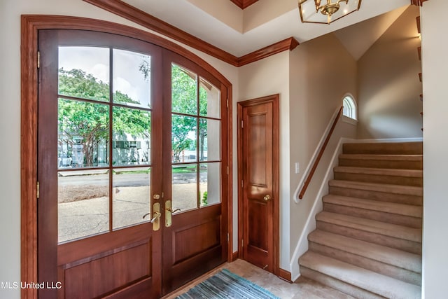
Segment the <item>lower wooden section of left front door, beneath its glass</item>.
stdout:
[[160,263],[152,256],[160,245],[148,231],[146,223],[59,245],[59,298],[158,298]]

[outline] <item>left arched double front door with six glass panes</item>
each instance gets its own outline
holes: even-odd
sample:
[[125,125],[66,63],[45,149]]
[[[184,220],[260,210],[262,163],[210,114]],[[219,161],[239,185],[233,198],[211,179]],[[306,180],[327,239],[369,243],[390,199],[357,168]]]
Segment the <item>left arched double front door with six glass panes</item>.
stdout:
[[38,296],[160,298],[161,49],[38,37]]

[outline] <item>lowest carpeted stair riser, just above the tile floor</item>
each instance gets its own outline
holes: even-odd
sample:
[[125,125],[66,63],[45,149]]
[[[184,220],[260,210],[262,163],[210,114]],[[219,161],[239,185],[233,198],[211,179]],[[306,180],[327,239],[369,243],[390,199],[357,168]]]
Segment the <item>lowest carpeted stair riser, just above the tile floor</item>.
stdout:
[[335,288],[336,290],[341,291],[342,293],[349,294],[354,298],[384,299],[384,297],[380,295],[376,295],[374,293],[366,291],[363,288],[358,288],[356,286],[353,286],[352,284],[347,284],[344,281],[332,278],[328,275],[311,270],[308,267],[304,267],[302,265],[300,266],[300,275],[308,277],[309,279],[313,279],[314,281],[318,281],[325,286]]

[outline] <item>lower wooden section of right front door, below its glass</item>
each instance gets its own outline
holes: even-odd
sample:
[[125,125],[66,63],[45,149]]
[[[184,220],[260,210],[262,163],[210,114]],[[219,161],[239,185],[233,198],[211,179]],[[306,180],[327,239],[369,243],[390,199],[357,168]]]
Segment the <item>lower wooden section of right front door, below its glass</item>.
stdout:
[[164,294],[225,262],[221,204],[174,215],[164,234],[163,248],[170,251],[163,254]]

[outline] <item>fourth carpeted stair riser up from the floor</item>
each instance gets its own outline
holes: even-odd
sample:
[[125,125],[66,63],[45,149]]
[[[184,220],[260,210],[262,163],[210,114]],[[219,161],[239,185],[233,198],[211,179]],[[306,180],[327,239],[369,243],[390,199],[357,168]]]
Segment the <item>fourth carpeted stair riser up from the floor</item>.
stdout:
[[373,211],[370,209],[360,209],[356,207],[347,207],[339,204],[323,203],[323,210],[332,213],[367,218],[386,223],[408,226],[409,228],[421,228],[421,218],[412,216],[403,216],[398,214],[386,213],[383,211]]

